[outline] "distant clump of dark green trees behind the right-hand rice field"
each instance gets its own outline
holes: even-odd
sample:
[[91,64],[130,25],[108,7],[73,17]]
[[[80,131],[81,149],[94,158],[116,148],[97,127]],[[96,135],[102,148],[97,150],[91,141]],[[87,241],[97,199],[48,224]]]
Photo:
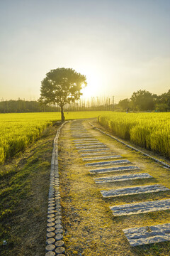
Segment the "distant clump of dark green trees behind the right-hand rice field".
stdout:
[[130,99],[120,100],[117,110],[170,112],[170,90],[162,95],[147,90],[133,92]]

